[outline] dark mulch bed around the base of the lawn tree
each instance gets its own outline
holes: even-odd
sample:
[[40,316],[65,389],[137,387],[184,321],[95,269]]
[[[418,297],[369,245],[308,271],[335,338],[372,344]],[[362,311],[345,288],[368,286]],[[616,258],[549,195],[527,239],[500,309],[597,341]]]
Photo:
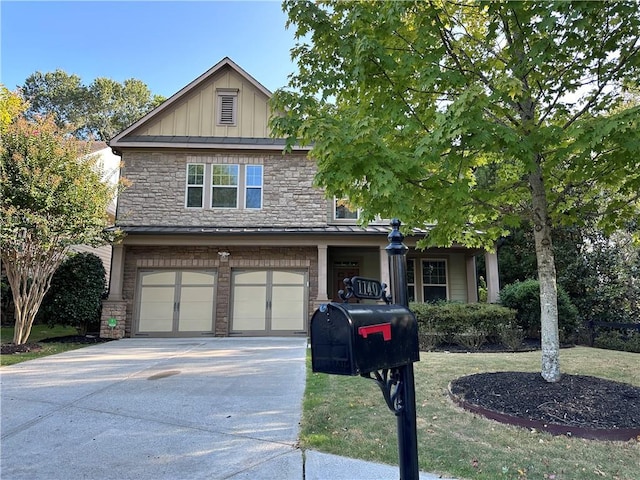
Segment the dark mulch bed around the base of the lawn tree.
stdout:
[[548,383],[540,373],[479,373],[458,378],[462,407],[503,423],[603,440],[640,439],[640,387],[586,375]]

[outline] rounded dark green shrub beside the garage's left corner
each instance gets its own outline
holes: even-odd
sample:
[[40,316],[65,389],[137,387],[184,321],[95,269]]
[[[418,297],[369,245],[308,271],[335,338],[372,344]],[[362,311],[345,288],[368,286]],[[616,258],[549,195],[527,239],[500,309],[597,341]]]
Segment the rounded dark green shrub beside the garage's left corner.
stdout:
[[92,253],[78,253],[65,260],[51,278],[37,319],[49,325],[75,327],[79,334],[95,330],[100,322],[106,272]]

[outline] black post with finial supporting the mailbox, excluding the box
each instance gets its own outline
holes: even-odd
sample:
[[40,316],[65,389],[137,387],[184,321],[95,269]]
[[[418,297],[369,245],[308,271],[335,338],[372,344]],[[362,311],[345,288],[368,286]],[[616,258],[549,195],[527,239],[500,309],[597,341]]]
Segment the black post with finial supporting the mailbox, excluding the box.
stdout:
[[[389,245],[389,290],[393,303],[409,306],[407,289],[407,250],[400,233],[400,220],[391,221]],[[398,462],[400,480],[419,480],[418,470],[418,433],[416,427],[416,387],[413,377],[413,363],[398,367],[399,383],[402,395],[402,408],[396,413],[398,422]]]

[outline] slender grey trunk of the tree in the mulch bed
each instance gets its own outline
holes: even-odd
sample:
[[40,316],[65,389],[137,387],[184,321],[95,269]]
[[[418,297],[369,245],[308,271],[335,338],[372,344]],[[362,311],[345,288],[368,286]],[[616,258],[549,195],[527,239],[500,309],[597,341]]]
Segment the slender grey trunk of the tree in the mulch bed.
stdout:
[[547,196],[542,172],[538,168],[529,177],[533,206],[533,235],[540,281],[540,334],[542,342],[542,378],[547,382],[560,380],[560,338],[558,335],[558,290],[556,267],[551,242],[551,219],[547,211]]

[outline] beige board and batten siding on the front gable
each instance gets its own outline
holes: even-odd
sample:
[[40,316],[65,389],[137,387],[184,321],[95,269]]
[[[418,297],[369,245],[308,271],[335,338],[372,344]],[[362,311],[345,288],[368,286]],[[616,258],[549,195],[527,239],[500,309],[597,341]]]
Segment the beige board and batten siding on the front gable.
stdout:
[[[236,125],[217,125],[217,92],[237,90]],[[140,136],[269,137],[267,96],[231,68],[225,68],[135,134]]]

